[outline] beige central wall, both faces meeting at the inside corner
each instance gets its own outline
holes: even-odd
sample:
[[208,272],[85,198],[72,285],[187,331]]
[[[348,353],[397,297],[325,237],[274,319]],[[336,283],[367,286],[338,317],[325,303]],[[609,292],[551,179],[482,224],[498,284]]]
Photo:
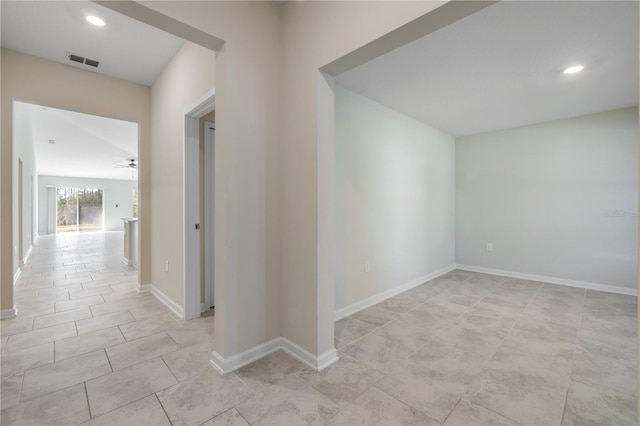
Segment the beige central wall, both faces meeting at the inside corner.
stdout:
[[225,41],[216,56],[215,219],[224,339],[215,350],[228,357],[283,335],[326,352],[333,283],[319,284],[317,267],[318,69],[442,2],[140,4]]

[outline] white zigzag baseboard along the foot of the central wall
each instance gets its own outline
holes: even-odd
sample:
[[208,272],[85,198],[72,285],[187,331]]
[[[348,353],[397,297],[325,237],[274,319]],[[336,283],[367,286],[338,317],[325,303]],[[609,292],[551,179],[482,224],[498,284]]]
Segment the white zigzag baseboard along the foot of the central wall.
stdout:
[[321,371],[338,361],[338,352],[335,349],[331,349],[316,357],[306,349],[293,343],[291,340],[285,337],[277,337],[228,358],[224,358],[216,351],[213,351],[209,362],[216,370],[218,370],[218,372],[221,374],[227,374],[242,368],[245,365],[251,364],[260,358],[264,358],[279,349],[284,350],[289,355],[298,359],[315,371]]

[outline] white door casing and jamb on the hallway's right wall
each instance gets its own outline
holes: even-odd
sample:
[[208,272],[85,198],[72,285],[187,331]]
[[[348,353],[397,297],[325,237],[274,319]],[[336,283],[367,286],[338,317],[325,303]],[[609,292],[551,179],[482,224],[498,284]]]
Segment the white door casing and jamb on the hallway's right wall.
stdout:
[[185,319],[200,316],[200,118],[214,109],[215,89],[211,89],[187,108],[184,116],[182,265]]

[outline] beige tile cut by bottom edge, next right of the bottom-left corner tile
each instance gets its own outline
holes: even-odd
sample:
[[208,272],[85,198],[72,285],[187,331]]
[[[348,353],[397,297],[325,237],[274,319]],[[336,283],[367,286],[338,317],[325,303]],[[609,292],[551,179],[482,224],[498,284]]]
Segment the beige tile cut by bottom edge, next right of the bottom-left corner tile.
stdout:
[[84,426],[170,426],[158,398],[149,395],[129,405],[115,409],[102,416],[94,417]]

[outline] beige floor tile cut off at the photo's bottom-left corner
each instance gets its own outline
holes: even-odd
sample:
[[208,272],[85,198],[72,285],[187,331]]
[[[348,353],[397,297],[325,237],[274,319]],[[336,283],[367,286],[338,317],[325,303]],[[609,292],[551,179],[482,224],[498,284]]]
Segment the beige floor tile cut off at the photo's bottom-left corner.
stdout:
[[82,383],[2,410],[3,425],[77,425],[89,419]]

